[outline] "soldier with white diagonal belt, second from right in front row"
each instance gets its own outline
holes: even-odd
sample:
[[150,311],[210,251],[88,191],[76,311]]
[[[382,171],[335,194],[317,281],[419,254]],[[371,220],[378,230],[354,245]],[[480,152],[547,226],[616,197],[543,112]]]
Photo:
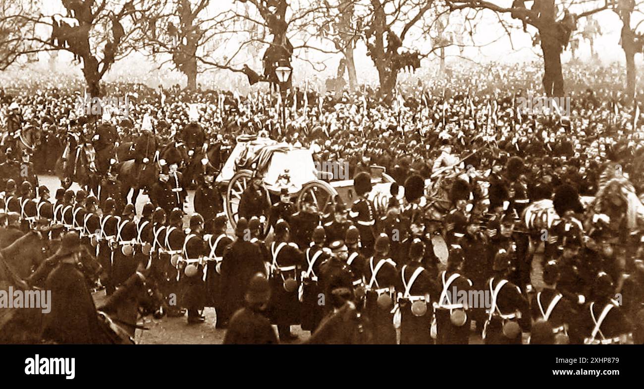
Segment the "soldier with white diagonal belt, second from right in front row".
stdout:
[[[535,298],[531,301],[532,318],[534,321],[542,319],[550,323],[553,337],[557,339],[557,343],[567,344],[569,343],[569,330],[572,330],[573,327],[578,327],[576,325],[571,326],[577,314],[573,308],[576,304],[556,290],[556,283],[559,280],[559,269],[556,261],[545,263],[543,280],[544,289],[541,292],[537,292]],[[574,343],[578,343],[578,341],[574,341]]]

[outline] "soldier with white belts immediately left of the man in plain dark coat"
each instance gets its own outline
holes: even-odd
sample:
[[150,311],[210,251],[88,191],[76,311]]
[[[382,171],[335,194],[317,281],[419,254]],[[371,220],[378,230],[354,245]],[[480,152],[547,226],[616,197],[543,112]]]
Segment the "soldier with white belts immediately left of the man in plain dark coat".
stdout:
[[223,321],[221,318],[221,307],[223,296],[220,295],[222,292],[220,283],[222,276],[221,263],[223,260],[223,252],[228,247],[233,239],[226,234],[226,225],[228,218],[225,214],[220,214],[214,219],[213,223],[213,233],[205,235],[204,239],[208,242],[209,246],[209,255],[206,260],[206,294],[207,302],[206,305],[209,307],[214,307],[216,313],[217,321],[215,323],[215,328],[223,328]]

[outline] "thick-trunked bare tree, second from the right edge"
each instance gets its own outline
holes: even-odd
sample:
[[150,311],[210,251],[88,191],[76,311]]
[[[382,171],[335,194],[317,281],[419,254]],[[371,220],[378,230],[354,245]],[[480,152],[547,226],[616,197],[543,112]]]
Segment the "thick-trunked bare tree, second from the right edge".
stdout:
[[597,12],[609,8],[609,3],[598,6],[598,1],[572,1],[576,6],[586,4],[595,5],[595,8],[587,10],[578,15],[574,15],[568,10],[568,5],[563,4],[564,14],[562,19],[557,19],[555,0],[535,0],[532,8],[528,9],[525,5],[528,0],[515,0],[512,6],[504,7],[482,0],[445,0],[451,10],[491,10],[496,12],[499,22],[506,28],[510,26],[500,17],[503,14],[509,14],[514,19],[518,19],[524,26],[531,25],[538,31],[538,40],[544,55],[544,90],[548,96],[562,97],[564,91],[564,75],[562,72],[561,53],[567,46],[571,33],[576,29],[576,21],[582,17],[596,14]]

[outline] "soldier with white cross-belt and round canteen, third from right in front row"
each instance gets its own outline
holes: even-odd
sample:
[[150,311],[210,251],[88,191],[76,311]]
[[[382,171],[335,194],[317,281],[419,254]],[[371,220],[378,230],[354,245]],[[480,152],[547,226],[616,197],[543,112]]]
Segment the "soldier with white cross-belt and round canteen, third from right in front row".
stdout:
[[488,280],[491,303],[488,318],[483,327],[486,345],[522,343],[521,332],[527,332],[530,325],[527,299],[521,289],[507,280],[510,258],[501,249],[495,254],[493,276]]

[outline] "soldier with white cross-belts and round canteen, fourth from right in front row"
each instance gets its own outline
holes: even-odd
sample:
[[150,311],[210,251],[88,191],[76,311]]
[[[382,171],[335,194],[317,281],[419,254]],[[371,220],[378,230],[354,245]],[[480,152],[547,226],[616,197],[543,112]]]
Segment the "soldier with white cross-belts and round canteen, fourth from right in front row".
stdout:
[[468,311],[469,304],[473,303],[467,299],[462,301],[462,295],[471,296],[472,281],[462,275],[462,265],[462,247],[452,245],[448,267],[439,276],[442,292],[434,313],[438,345],[467,345],[469,341],[471,317]]

